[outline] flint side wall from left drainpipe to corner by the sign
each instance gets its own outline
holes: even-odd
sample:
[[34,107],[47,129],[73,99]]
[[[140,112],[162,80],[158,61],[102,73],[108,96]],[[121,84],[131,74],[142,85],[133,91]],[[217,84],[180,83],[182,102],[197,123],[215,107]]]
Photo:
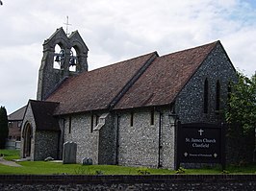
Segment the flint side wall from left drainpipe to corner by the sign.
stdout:
[[154,111],[153,125],[151,109],[119,113],[118,164],[174,168],[174,129],[169,123],[168,110],[163,109],[161,113]]

